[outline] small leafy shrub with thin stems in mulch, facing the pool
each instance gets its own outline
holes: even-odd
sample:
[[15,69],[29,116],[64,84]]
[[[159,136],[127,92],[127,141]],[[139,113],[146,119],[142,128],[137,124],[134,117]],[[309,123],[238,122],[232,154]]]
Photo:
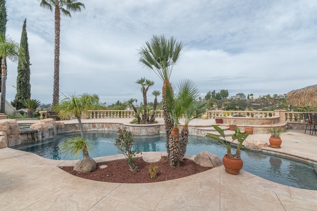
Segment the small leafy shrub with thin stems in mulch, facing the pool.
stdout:
[[126,127],[118,129],[119,137],[115,139],[114,145],[118,148],[119,153],[123,154],[131,171],[138,170],[135,158],[141,150],[133,150],[132,132],[127,131]]

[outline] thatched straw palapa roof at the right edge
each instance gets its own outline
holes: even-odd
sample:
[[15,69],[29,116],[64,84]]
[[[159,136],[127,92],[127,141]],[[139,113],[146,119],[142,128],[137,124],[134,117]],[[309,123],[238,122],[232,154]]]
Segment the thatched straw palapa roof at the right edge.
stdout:
[[290,91],[287,95],[291,105],[317,105],[317,84]]

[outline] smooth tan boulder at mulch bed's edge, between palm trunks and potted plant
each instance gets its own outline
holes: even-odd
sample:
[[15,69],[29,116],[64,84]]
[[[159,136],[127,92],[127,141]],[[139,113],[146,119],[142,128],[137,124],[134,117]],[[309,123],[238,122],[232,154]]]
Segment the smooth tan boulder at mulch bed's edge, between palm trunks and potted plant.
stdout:
[[222,165],[221,159],[208,151],[200,152],[194,159],[196,164],[199,164],[203,167],[219,167]]

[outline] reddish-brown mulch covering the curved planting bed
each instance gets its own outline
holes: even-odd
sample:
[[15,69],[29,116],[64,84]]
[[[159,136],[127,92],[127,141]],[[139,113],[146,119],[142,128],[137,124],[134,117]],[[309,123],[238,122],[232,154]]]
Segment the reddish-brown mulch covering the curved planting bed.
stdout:
[[[210,167],[200,166],[194,161],[188,159],[184,159],[183,162],[181,162],[180,167],[174,168],[170,166],[169,160],[164,156],[159,162],[153,163],[155,166],[159,167],[159,169],[157,169],[157,178],[151,179],[147,167],[150,163],[145,162],[142,158],[137,158],[136,164],[139,171],[130,171],[125,160],[98,163],[97,170],[91,173],[79,173],[74,171],[73,167],[60,167],[60,169],[82,178],[116,183],[148,183],[166,181],[190,176],[211,169]],[[99,166],[101,165],[106,165],[107,168],[100,169]]]

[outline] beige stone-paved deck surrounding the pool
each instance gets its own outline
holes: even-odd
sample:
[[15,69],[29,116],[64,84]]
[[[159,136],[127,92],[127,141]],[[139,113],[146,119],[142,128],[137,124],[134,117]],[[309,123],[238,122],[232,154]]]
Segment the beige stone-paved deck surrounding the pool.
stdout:
[[[192,125],[210,125],[211,121],[194,121]],[[266,141],[268,137],[269,134],[249,136]],[[282,134],[282,140],[282,148],[275,151],[317,161],[317,134],[312,136],[303,134],[303,131],[289,130]],[[144,156],[153,158],[161,154],[144,153]],[[122,156],[96,160],[118,158]],[[123,184],[79,178],[57,167],[74,162],[53,161],[10,148],[0,149],[0,210],[317,210],[317,191],[277,184],[244,170],[231,175],[221,166],[175,180]]]

